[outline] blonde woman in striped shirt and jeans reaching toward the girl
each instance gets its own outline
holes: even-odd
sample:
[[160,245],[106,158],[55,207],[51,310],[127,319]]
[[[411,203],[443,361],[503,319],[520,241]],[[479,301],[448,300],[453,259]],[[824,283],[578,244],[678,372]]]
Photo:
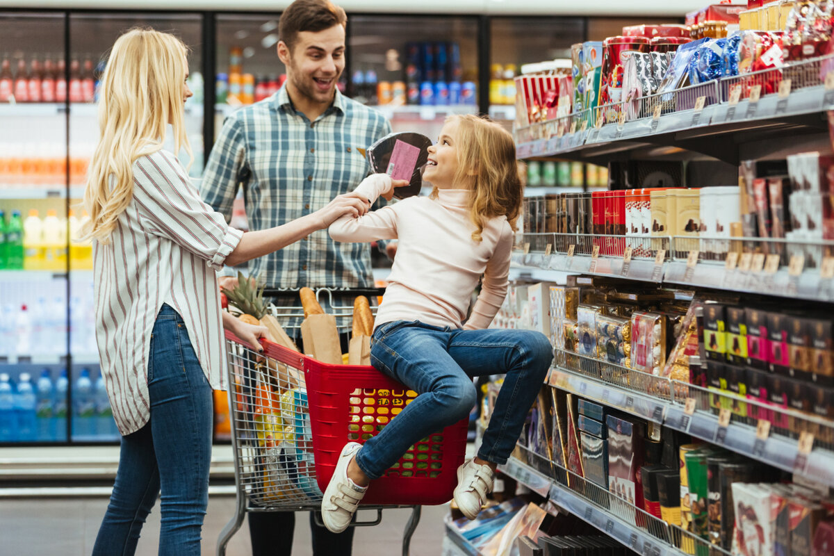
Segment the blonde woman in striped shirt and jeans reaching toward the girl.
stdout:
[[[174,152],[188,140],[187,49],[178,38],[132,29],[118,38],[101,85],[101,141],[84,203],[91,215],[96,340],[122,433],[116,482],[93,554],[133,554],[162,492],[159,554],[200,553],[208,504],[212,388],[226,388],[216,270],[263,256],[364,214],[355,194],[277,228],[242,233],[203,203]],[[256,345],[264,332],[224,314]]]

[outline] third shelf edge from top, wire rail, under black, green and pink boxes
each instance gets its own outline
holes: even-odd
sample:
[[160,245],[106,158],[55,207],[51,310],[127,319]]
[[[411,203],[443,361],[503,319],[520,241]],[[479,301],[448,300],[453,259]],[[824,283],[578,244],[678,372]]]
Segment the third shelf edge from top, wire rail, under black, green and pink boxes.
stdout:
[[[641,379],[639,375],[646,373],[563,350],[556,351],[556,362],[549,382],[554,388],[662,423],[706,442],[720,443],[748,458],[834,487],[834,423],[668,378],[647,375]],[[624,387],[623,383],[633,384],[634,388]],[[691,415],[684,411],[686,398],[696,399],[696,410]],[[719,434],[721,408],[736,409],[726,430]],[[776,426],[763,442],[756,442],[759,415],[768,417],[769,422],[793,423],[794,428],[814,431],[815,447],[806,458],[798,457],[796,433]]]

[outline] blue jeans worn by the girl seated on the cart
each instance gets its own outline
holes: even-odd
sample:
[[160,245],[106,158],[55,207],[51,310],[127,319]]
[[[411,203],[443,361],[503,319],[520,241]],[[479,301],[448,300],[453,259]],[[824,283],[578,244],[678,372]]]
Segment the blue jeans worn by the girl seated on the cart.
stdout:
[[544,334],[530,330],[457,330],[419,321],[374,330],[375,368],[420,394],[369,438],[356,463],[379,478],[414,442],[469,415],[477,399],[473,377],[505,374],[478,457],[506,463],[553,360]]

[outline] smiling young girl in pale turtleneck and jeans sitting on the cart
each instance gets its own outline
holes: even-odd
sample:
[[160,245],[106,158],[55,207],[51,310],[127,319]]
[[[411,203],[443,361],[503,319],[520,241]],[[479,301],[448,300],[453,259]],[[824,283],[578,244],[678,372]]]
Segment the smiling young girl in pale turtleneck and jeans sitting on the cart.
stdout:
[[[324,524],[334,533],[349,525],[370,481],[414,442],[470,413],[473,377],[506,374],[477,457],[458,469],[455,502],[475,519],[553,358],[542,333],[485,329],[507,293],[522,201],[510,133],[475,116],[447,119],[429,148],[424,178],[435,186],[429,198],[339,218],[329,228],[337,241],[399,240],[371,339],[371,362],[420,394],[364,445],[344,446],[321,505]],[[374,174],[356,192],[373,203],[392,189],[388,176]],[[479,281],[480,294],[463,323]]]

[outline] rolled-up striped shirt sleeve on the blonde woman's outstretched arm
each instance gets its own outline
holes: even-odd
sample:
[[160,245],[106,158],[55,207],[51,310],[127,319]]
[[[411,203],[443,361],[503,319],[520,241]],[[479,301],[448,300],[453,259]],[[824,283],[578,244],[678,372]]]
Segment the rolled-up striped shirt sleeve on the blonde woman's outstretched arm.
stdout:
[[170,239],[215,270],[223,268],[244,233],[203,203],[173,154],[158,151],[138,158],[133,163],[133,184],[148,233]]

